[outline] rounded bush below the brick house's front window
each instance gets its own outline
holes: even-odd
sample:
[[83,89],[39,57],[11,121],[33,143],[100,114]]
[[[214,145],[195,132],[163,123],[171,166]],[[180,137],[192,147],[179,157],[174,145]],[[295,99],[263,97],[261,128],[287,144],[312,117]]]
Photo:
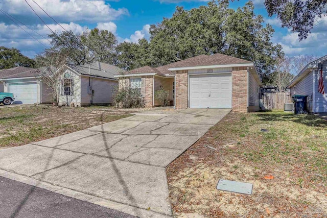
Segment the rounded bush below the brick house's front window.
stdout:
[[116,90],[113,99],[117,107],[145,107],[145,98],[142,97],[139,89],[120,88],[119,90]]

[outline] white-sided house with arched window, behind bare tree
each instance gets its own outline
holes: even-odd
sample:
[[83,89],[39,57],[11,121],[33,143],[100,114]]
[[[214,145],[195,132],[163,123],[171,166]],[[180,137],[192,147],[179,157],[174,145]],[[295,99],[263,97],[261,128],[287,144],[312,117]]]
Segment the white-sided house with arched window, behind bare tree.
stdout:
[[118,85],[114,75],[122,74],[119,67],[94,62],[85,65],[64,65],[61,75],[59,105],[109,105]]

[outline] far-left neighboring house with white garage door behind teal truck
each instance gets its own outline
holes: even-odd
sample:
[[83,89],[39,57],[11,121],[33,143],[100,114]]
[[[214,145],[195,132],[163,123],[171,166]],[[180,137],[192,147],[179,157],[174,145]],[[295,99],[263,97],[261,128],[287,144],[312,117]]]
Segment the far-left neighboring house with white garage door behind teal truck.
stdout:
[[22,66],[3,69],[0,84],[4,92],[14,93],[13,104],[52,103],[51,89],[38,79],[39,73],[39,69]]

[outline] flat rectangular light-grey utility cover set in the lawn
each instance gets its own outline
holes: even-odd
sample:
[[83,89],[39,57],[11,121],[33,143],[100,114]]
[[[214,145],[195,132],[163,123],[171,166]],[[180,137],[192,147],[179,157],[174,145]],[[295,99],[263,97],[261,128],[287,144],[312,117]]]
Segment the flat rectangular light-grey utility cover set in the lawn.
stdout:
[[253,185],[251,183],[236,182],[225,179],[220,179],[217,185],[218,190],[237,192],[246,195],[252,194],[252,187]]

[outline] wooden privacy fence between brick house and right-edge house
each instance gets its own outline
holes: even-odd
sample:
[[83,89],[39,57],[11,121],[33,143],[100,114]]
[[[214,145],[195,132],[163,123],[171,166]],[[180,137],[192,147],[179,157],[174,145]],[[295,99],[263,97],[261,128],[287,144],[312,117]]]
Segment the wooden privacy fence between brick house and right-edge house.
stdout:
[[266,110],[284,110],[285,103],[292,103],[289,92],[262,93],[262,103]]

